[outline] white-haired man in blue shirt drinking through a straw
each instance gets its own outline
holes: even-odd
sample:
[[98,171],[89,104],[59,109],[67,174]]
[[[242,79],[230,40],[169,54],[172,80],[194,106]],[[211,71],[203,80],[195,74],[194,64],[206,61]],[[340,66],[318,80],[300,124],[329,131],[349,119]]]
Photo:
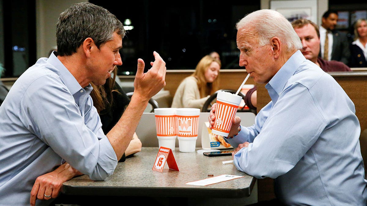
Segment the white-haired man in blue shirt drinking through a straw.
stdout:
[[236,148],[236,168],[275,179],[274,202],[284,205],[366,205],[360,125],[348,95],[306,60],[297,33],[279,12],[252,12],[236,27],[239,64],[266,84],[271,98],[254,125],[241,127],[241,119],[233,119],[225,140]]

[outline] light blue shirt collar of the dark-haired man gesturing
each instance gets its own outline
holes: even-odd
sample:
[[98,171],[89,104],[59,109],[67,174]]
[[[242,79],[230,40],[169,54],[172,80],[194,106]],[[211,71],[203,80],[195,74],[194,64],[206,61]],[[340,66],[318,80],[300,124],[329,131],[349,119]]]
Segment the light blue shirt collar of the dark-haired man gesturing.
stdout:
[[55,55],[55,51],[51,53],[50,57],[47,59],[47,62],[53,65],[57,70],[55,71],[62,79],[66,87],[68,87],[69,91],[72,94],[79,92],[80,90],[91,91],[91,85],[88,85],[85,88],[82,88],[79,82],[75,79],[75,77],[70,73],[68,69],[60,62],[60,60]]

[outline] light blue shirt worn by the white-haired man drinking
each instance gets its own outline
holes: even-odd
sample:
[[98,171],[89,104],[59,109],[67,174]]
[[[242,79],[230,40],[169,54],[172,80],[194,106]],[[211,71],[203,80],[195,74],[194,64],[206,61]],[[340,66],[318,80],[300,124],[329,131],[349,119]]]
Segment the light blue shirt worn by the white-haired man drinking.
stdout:
[[360,125],[348,95],[297,51],[266,84],[272,101],[251,127],[226,139],[234,164],[259,179],[275,179],[287,205],[366,205]]

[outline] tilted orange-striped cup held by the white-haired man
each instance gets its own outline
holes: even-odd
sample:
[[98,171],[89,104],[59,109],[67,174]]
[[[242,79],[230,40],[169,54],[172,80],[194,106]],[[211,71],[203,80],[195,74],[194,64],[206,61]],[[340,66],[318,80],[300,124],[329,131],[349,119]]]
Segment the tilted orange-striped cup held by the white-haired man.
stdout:
[[217,107],[215,108],[215,121],[212,133],[227,137],[232,127],[242,97],[229,92],[219,91],[217,95]]

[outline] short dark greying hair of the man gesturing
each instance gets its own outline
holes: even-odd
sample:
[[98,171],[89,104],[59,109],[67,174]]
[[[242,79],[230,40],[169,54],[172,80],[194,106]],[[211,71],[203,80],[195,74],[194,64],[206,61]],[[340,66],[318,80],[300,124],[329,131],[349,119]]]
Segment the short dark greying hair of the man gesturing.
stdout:
[[108,10],[88,2],[73,4],[60,14],[56,24],[58,55],[72,55],[88,37],[99,49],[112,40],[114,32],[121,38],[126,34],[123,24]]

